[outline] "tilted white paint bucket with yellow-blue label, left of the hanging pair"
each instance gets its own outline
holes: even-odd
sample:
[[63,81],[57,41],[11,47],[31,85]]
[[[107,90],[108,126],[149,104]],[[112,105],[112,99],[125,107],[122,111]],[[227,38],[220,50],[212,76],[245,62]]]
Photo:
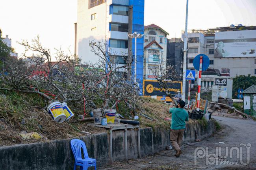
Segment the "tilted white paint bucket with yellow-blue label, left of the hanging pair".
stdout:
[[66,115],[59,101],[50,103],[47,107],[48,113],[52,114],[54,121],[62,123],[66,119]]

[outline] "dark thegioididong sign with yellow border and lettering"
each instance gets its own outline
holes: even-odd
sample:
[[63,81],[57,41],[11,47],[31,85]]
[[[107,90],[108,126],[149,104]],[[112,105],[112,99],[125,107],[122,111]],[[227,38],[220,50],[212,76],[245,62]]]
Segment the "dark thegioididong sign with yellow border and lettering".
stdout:
[[[167,85],[171,94],[182,91],[182,82],[180,81],[168,82]],[[171,98],[166,95],[165,89],[160,87],[157,80],[143,80],[143,96],[157,96],[159,100],[165,98],[165,101],[172,101]]]

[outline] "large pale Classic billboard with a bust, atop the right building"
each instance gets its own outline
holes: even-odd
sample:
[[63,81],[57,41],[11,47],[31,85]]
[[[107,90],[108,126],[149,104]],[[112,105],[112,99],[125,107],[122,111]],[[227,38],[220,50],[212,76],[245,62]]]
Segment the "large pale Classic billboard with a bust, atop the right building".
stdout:
[[215,33],[214,57],[256,57],[256,30]]

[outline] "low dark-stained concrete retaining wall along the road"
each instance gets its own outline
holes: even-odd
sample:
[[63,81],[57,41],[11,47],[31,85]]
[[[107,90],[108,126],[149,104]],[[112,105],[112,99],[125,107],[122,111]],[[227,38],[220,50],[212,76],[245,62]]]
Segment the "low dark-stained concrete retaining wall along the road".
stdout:
[[[195,140],[195,130],[198,138],[210,136],[215,126],[208,121],[207,127],[202,127],[197,121],[187,123],[184,132],[184,142]],[[138,157],[137,130],[127,130],[128,159]],[[97,166],[109,164],[109,134],[100,133],[79,137],[85,141],[89,157],[97,160]],[[72,170],[74,156],[70,148],[71,139],[54,140],[45,143],[20,144],[0,147],[0,170]],[[141,156],[152,155],[165,150],[170,145],[170,130],[163,128],[140,129]],[[124,131],[113,131],[113,161],[124,160]]]

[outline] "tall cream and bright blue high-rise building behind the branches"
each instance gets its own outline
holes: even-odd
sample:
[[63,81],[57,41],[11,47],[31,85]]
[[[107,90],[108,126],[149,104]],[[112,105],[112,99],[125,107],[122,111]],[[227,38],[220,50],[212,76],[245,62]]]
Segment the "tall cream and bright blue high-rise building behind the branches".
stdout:
[[[126,64],[128,56],[134,58],[135,40],[128,38],[134,32],[144,34],[144,0],[78,0],[75,55],[82,62],[98,60],[89,47],[89,41],[94,40],[106,43],[110,60],[117,65]],[[136,62],[137,82],[142,89],[143,38],[137,38]]]

